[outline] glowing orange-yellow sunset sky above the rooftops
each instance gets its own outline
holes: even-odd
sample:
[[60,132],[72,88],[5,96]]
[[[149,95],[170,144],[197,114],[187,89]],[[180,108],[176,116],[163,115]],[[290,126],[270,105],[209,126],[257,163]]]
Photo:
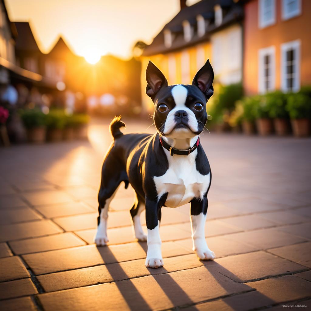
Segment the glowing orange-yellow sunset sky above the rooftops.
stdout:
[[[192,4],[197,0],[188,0]],[[179,0],[5,0],[11,21],[29,21],[48,53],[62,35],[81,56],[131,57],[132,47],[152,42],[179,12]]]

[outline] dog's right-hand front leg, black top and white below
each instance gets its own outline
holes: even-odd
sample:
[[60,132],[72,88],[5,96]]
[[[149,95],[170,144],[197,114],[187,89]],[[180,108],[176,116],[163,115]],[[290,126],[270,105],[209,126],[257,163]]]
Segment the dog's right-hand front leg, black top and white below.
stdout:
[[191,231],[193,250],[196,252],[197,257],[202,260],[215,259],[215,253],[212,252],[205,240],[205,220],[207,214],[208,201],[205,196],[202,200],[194,198],[191,201]]

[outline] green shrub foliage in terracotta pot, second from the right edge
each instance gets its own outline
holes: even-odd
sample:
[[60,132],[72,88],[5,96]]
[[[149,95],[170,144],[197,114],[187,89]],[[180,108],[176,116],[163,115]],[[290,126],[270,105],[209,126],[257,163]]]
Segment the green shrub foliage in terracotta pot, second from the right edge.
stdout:
[[288,118],[288,111],[285,109],[287,103],[287,94],[281,91],[275,91],[273,93],[268,93],[265,96],[267,108],[269,110],[270,118]]

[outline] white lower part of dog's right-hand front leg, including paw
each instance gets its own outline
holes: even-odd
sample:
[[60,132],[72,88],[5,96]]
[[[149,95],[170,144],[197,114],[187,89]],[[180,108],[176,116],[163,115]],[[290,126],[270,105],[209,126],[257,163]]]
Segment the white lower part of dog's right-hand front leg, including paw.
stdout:
[[206,215],[200,213],[199,215],[191,215],[191,232],[193,241],[193,250],[200,259],[215,259],[215,253],[212,252],[205,240],[205,221]]

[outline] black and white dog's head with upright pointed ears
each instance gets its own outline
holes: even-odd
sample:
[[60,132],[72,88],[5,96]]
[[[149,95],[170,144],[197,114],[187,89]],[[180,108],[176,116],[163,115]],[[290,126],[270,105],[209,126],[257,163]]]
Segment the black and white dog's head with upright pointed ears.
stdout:
[[168,85],[163,73],[149,61],[146,93],[155,104],[154,123],[160,135],[191,138],[203,132],[206,103],[213,95],[213,68],[209,60],[197,72],[192,85]]

